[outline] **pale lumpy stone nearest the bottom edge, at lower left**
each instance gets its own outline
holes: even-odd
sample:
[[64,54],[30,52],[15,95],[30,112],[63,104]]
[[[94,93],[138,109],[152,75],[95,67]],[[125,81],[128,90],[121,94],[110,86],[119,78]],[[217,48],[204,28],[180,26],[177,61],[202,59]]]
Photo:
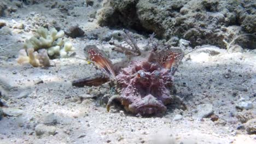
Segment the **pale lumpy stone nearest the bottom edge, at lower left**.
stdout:
[[34,129],[36,131],[37,136],[42,136],[42,135],[55,135],[56,134],[56,128],[53,126],[47,126],[44,124],[38,124],[36,128]]

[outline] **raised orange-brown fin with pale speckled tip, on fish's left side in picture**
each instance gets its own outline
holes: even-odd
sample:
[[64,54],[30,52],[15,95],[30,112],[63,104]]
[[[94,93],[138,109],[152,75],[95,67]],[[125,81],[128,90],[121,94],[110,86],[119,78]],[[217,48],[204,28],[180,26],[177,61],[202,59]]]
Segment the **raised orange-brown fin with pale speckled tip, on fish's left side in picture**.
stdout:
[[115,79],[115,72],[112,62],[103,55],[103,52],[101,52],[101,50],[99,50],[95,45],[88,45],[86,47],[91,61],[100,67],[110,79]]

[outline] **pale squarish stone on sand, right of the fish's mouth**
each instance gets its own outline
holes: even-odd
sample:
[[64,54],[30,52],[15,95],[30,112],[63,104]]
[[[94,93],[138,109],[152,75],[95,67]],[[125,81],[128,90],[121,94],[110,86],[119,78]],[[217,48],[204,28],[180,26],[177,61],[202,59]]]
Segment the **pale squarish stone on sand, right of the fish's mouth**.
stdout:
[[213,106],[211,104],[201,104],[197,106],[197,117],[206,118],[213,114]]

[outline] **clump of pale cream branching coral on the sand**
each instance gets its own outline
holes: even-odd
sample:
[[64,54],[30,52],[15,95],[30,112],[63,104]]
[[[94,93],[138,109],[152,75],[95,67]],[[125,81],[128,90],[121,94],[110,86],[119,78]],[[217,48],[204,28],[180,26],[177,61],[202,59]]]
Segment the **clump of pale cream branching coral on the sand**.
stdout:
[[49,67],[50,58],[67,57],[69,51],[74,50],[67,38],[63,38],[64,32],[55,28],[40,27],[37,35],[27,39],[25,49],[19,51],[18,63],[30,63],[33,67]]

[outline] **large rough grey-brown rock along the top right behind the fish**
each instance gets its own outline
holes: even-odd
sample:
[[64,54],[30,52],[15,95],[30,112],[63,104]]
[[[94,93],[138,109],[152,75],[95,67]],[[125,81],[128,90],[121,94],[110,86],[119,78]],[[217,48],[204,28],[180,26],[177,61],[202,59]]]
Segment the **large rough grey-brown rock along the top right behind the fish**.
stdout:
[[[222,48],[240,34],[256,32],[253,0],[109,0],[98,11],[101,26],[129,27],[155,32],[159,38],[173,35],[189,40],[192,46],[217,45]],[[255,34],[238,37],[234,43],[255,49]]]

